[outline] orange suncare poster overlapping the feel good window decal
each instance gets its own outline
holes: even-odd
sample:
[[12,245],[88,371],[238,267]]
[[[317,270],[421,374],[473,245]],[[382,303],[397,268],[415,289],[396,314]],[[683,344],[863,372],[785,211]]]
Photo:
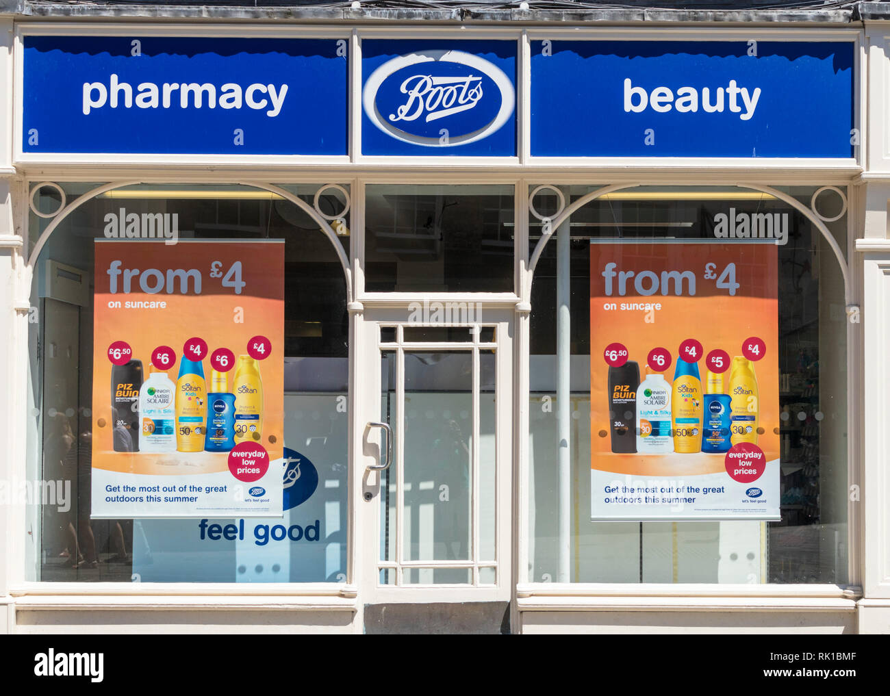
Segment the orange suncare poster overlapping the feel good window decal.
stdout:
[[283,241],[166,242],[95,243],[93,517],[280,516]]

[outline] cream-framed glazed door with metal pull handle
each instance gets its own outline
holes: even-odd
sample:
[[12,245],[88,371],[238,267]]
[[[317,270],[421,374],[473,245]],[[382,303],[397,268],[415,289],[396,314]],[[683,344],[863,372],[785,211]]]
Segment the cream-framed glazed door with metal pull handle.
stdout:
[[363,329],[366,602],[508,600],[510,320]]

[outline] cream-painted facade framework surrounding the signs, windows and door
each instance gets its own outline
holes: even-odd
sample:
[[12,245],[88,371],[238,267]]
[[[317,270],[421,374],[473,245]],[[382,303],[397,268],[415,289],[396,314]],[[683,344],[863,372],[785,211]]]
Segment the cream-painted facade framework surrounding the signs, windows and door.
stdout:
[[[52,23],[46,21],[52,20]],[[50,17],[35,20],[22,14],[0,15],[0,311],[4,334],[0,365],[4,366],[4,399],[0,400],[0,478],[7,482],[25,475],[28,427],[28,312],[34,269],[28,254],[28,201],[43,182],[131,182],[245,184],[266,188],[282,183],[328,182],[348,185],[352,198],[349,271],[350,443],[348,499],[348,572],[343,583],[205,584],[205,583],[61,583],[28,579],[28,526],[24,506],[0,507],[0,630],[7,633],[109,632],[280,632],[363,633],[368,630],[367,606],[390,604],[508,603],[513,633],[890,633],[890,374],[886,345],[890,344],[890,15],[886,20],[766,21],[745,25],[728,22],[646,22],[602,26],[553,27],[546,22],[517,19],[506,26],[485,22],[440,21],[422,27],[411,21],[281,22],[275,31],[293,30],[304,36],[333,36],[344,26],[353,45],[360,36],[461,38],[514,35],[519,56],[519,149],[517,158],[486,162],[482,158],[418,161],[411,158],[363,158],[354,152],[340,163],[296,163],[202,156],[162,161],[123,156],[42,158],[22,154],[14,146],[20,118],[16,80],[16,45],[22,30],[96,30],[164,32],[171,27],[195,33],[234,32],[245,36],[270,27],[260,20],[178,20],[161,25],[139,16]],[[234,22],[234,23],[233,23]],[[695,40],[702,36],[766,39],[837,38],[854,42],[858,53],[854,72],[860,145],[849,160],[780,159],[680,160],[611,159],[592,162],[540,160],[530,157],[527,69],[528,41],[536,36],[599,36],[616,31],[641,38],[665,34]],[[352,79],[360,75],[353,69]],[[353,90],[358,87],[353,86]],[[15,94],[15,98],[12,95]],[[351,127],[359,134],[359,100],[353,101]],[[17,154],[18,153],[18,154]],[[505,183],[514,185],[516,253],[514,293],[411,295],[376,293],[365,289],[365,240],[362,191],[368,185],[411,183]],[[529,245],[531,184],[569,186],[613,185],[615,190],[643,185],[725,185],[741,188],[832,186],[847,191],[847,256],[850,291],[847,310],[861,311],[861,321],[847,322],[846,391],[848,394],[846,510],[849,581],[828,584],[611,584],[532,581],[530,564],[530,463],[527,445],[530,393],[530,293],[535,247]],[[756,190],[756,189],[755,189]],[[812,211],[810,211],[812,213]],[[808,214],[815,220],[815,216]],[[320,226],[324,223],[320,222]],[[33,238],[31,243],[35,241]],[[555,241],[551,242],[555,244]],[[376,363],[380,325],[401,326],[409,303],[417,301],[478,302],[498,328],[498,384],[503,386],[496,415],[500,439],[496,497],[498,580],[490,587],[380,587],[377,583],[378,533],[363,498],[364,476],[376,452],[360,447],[366,422],[374,420],[379,384],[368,375]],[[853,312],[854,313],[854,312]],[[407,340],[407,339],[406,339]],[[478,344],[477,344],[478,347]],[[533,390],[532,390],[533,391]],[[32,559],[33,560],[33,559]],[[476,569],[479,571],[479,569]],[[447,612],[445,612],[447,614]]]

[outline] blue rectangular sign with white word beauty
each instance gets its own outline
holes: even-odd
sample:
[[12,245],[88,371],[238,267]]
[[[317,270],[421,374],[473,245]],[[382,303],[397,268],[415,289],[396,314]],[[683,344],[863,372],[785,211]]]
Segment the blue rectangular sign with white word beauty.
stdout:
[[531,42],[538,157],[850,158],[852,42]]

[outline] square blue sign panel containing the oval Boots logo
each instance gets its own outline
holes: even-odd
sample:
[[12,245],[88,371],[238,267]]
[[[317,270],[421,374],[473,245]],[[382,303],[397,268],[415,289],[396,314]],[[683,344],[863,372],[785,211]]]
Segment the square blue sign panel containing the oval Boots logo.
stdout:
[[515,41],[361,45],[365,155],[516,154]]

